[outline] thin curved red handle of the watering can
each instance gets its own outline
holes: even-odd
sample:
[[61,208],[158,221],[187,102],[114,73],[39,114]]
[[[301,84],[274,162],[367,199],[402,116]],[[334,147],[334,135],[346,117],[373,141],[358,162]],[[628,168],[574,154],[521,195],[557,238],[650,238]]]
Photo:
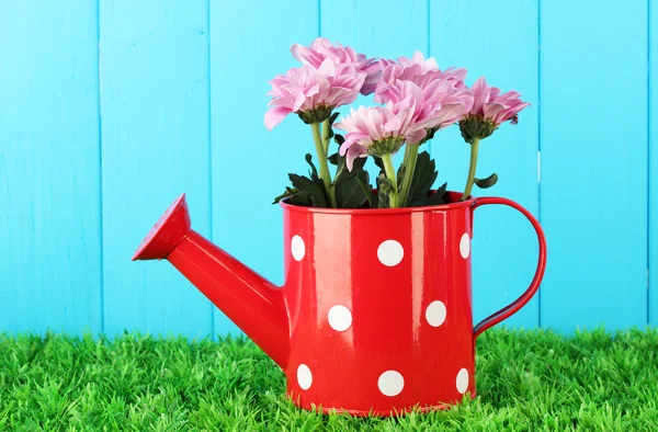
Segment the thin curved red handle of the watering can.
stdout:
[[502,309],[498,310],[497,312],[488,316],[487,318],[483,319],[477,326],[475,326],[475,329],[473,330],[473,333],[474,333],[473,339],[474,340],[478,336],[480,336],[485,330],[487,330],[487,329],[496,326],[500,321],[511,317],[512,315],[518,312],[519,309],[521,309],[523,306],[525,306],[525,304],[527,302],[530,302],[530,299],[537,292],[537,288],[540,287],[540,283],[542,282],[542,277],[544,276],[544,270],[546,269],[546,239],[544,237],[544,230],[542,229],[542,226],[540,225],[537,219],[535,219],[535,217],[529,211],[526,211],[519,204],[514,203],[513,201],[510,201],[507,198],[499,198],[499,197],[488,197],[487,196],[487,197],[481,197],[481,198],[475,198],[475,201],[473,203],[473,212],[475,212],[475,209],[477,207],[479,207],[481,205],[487,205],[487,204],[502,204],[502,205],[510,206],[510,207],[515,208],[517,211],[521,212],[523,214],[523,216],[525,216],[527,218],[527,220],[530,220],[533,228],[537,232],[537,239],[540,240],[540,258],[537,260],[537,270],[532,280],[532,283],[530,284],[530,287],[527,289],[525,289],[525,293],[523,293],[521,295],[521,297],[517,298],[512,304],[510,304],[510,305],[503,307]]

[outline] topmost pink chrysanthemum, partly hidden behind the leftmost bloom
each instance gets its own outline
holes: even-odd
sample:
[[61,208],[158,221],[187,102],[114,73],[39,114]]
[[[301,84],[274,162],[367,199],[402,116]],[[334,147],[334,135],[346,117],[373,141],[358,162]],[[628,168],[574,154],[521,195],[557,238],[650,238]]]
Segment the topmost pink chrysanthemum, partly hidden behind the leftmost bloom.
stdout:
[[356,54],[354,48],[337,44],[334,46],[325,37],[316,38],[310,47],[294,44],[291,47],[293,57],[305,65],[319,68],[322,61],[330,58],[334,65],[353,65],[356,71],[365,72],[361,94],[367,95],[375,91],[377,80],[381,76],[379,64],[374,58],[367,58],[364,54]]

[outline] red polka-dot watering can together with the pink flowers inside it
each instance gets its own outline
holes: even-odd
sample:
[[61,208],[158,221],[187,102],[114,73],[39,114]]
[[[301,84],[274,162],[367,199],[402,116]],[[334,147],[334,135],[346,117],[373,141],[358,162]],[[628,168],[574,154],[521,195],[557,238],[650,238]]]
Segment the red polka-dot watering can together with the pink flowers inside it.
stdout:
[[[392,416],[475,397],[477,337],[520,310],[544,274],[544,235],[530,212],[501,197],[470,197],[474,184],[497,180],[476,178],[479,141],[517,123],[527,103],[484,78],[468,88],[465,69],[442,71],[421,53],[372,59],[325,38],[292,53],[302,65],[271,81],[265,126],[297,114],[310,125],[319,170],[306,155],[309,175],[288,174],[292,185],[274,200],[283,213],[283,286],[194,231],[184,195],[134,259],[167,258],[183,272],[281,366],[286,395],[303,409]],[[336,110],[359,94],[378,105],[338,121]],[[435,163],[420,147],[452,124],[470,145],[466,184],[432,190]],[[370,157],[379,169],[374,186]],[[494,204],[531,221],[540,259],[526,291],[474,326],[473,220]]]

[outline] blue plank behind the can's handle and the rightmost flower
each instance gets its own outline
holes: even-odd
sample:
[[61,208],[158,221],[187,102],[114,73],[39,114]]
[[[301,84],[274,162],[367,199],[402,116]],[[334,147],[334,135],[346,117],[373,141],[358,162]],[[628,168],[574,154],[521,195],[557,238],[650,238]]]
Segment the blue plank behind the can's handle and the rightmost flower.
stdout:
[[[430,50],[439,67],[468,69],[466,83],[481,76],[501,91],[517,90],[532,105],[519,115],[519,124],[501,125],[480,144],[477,177],[492,172],[498,183],[488,190],[474,187],[475,196],[503,196],[540,216],[537,190],[538,68],[536,2],[485,0],[430,2]],[[469,146],[460,129],[440,130],[432,141],[438,186],[464,191]],[[551,245],[551,242],[549,242]],[[502,206],[477,209],[473,238],[474,318],[480,320],[512,303],[527,288],[535,272],[537,240],[530,223]],[[540,294],[499,326],[538,326]]]

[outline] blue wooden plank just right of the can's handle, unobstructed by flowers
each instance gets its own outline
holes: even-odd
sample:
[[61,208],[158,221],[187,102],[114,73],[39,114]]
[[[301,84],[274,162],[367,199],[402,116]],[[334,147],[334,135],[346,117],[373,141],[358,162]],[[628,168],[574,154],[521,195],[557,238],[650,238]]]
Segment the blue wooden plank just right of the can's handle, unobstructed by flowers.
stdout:
[[545,327],[647,322],[646,9],[542,1]]

